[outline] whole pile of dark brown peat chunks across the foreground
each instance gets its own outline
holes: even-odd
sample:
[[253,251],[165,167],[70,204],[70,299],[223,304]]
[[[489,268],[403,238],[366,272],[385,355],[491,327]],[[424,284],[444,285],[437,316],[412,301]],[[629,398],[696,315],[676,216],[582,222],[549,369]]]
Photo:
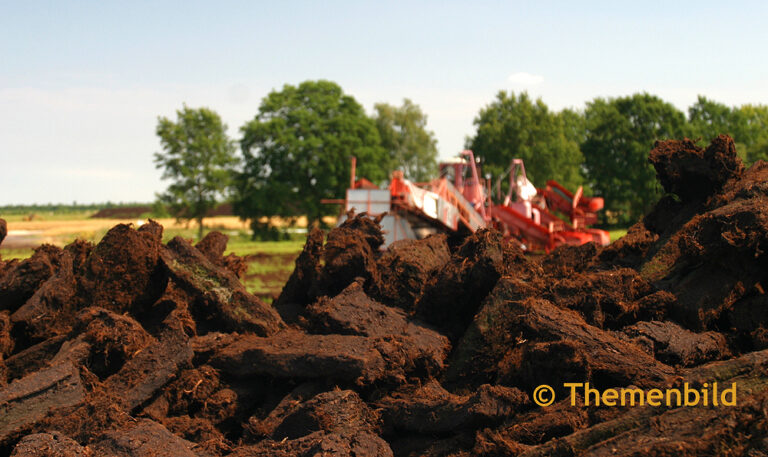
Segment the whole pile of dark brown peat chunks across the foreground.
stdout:
[[[481,230],[384,252],[351,217],[273,305],[226,237],[164,245],[153,222],[0,261],[0,455],[768,455],[768,164],[724,136],[650,160],[668,195],[605,249],[534,259]],[[563,387],[715,381],[737,406]]]

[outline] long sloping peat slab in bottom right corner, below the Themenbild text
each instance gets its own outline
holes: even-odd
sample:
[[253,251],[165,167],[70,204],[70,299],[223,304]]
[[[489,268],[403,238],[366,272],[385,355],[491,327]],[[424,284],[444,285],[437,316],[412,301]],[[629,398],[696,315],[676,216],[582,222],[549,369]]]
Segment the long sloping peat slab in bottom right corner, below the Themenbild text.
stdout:
[[682,373],[678,388],[683,383],[697,386],[696,389],[704,383],[718,382],[721,388],[735,383],[738,389],[735,406],[713,407],[711,403],[710,406],[699,403],[674,407],[674,400],[672,408],[638,405],[520,455],[755,455],[742,451],[750,445],[762,447],[766,438],[767,364],[768,351],[759,351]]

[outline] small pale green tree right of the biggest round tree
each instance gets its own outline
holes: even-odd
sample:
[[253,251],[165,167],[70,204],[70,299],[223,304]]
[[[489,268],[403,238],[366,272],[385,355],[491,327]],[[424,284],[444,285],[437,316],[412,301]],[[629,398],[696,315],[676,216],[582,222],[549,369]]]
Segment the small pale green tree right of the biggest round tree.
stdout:
[[437,140],[427,130],[427,116],[409,99],[395,107],[386,103],[374,106],[376,128],[381,145],[390,155],[390,170],[402,170],[405,177],[426,181],[437,171]]

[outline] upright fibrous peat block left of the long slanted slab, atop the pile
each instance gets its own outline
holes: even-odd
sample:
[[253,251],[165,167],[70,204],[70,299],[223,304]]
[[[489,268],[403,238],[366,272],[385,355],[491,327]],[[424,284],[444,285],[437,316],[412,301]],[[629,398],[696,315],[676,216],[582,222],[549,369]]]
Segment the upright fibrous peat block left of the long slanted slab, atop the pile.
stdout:
[[159,268],[163,228],[154,221],[134,230],[116,225],[93,248],[83,266],[81,295],[89,305],[118,313],[154,303],[167,282]]

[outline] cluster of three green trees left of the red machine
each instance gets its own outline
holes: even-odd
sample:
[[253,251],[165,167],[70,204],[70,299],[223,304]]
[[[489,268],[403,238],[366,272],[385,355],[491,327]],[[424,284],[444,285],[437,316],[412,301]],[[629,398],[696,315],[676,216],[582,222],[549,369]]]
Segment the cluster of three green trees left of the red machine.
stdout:
[[175,216],[197,220],[200,236],[204,215],[223,198],[254,233],[268,230],[263,216],[318,224],[334,212],[321,200],[345,194],[353,156],[358,176],[376,183],[395,169],[416,181],[432,177],[437,140],[426,125],[411,100],[378,103],[368,116],[338,84],[322,80],[270,92],[237,141],[214,111],[184,106],[175,121],[158,119],[163,151],[155,165],[171,181],[158,200]]

